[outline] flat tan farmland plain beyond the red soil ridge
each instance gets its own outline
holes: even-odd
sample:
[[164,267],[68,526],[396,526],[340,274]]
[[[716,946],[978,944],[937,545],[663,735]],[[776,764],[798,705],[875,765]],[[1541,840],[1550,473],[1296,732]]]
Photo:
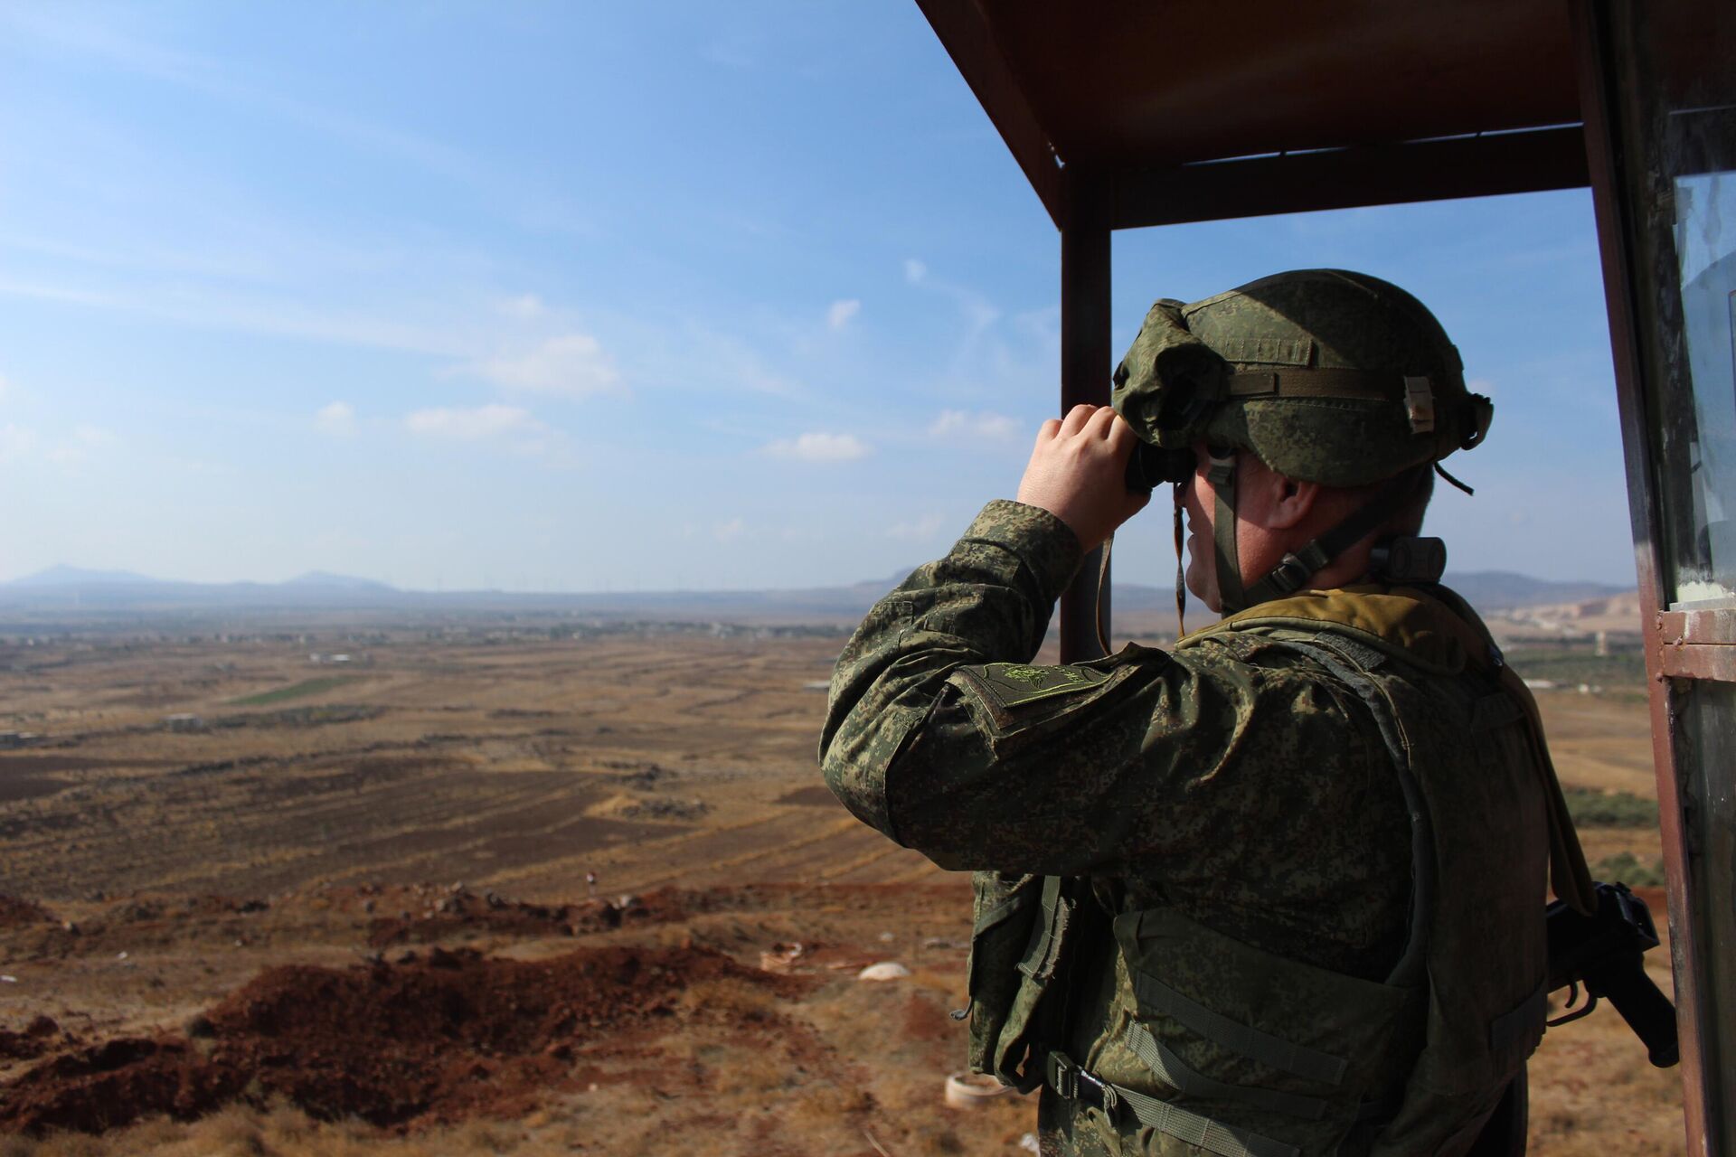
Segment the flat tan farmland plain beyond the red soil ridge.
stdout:
[[[306,647],[115,649],[0,671],[7,715],[56,744],[0,753],[7,886],[59,904],[312,879],[571,897],[587,871],[608,893],[918,871],[826,800],[778,803],[816,782],[825,699],[804,683],[837,645],[406,638],[375,645],[345,689],[377,715],[191,734],[160,722],[247,716],[229,706],[238,690],[307,683]],[[226,664],[243,671],[208,677]],[[120,704],[141,687],[149,708]],[[9,800],[7,784],[33,794]]]

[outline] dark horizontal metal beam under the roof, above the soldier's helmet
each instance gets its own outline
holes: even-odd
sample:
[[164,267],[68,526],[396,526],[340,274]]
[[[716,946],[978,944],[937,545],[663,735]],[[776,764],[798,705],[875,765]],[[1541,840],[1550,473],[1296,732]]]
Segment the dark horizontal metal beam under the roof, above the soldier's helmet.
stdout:
[[1115,175],[1113,226],[1137,229],[1585,184],[1585,141],[1580,127],[1571,125],[1174,168],[1127,168]]

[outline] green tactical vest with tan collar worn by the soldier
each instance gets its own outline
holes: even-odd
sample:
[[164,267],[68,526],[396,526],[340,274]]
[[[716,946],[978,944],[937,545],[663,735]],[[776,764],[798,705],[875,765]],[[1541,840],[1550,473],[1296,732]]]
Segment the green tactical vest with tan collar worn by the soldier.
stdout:
[[[1305,656],[1373,716],[1410,814],[1399,963],[1364,980],[1172,907],[1102,911],[1085,879],[977,873],[970,1065],[1082,1101],[1109,1152],[1462,1154],[1543,1034],[1550,862],[1557,893],[1590,904],[1536,704],[1444,588],[1267,602],[1177,650],[1224,631]],[[1104,935],[1115,994],[1075,1058],[1068,970]]]

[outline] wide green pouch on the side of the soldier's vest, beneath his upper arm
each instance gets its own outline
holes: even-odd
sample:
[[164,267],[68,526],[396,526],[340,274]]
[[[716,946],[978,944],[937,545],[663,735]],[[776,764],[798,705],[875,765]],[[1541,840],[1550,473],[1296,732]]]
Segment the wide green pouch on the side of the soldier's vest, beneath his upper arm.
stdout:
[[1304,1152],[1337,1152],[1366,1101],[1397,1105],[1420,990],[1276,956],[1167,907],[1123,912],[1115,937],[1134,1023],[1102,1048],[1104,1081]]

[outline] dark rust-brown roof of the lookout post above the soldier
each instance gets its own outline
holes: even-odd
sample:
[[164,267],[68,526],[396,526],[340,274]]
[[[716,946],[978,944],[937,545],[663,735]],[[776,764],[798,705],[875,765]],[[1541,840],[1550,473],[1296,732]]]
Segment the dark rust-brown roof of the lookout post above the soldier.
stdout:
[[1561,0],[918,3],[1057,224],[1062,165],[1115,227],[1587,184]]

